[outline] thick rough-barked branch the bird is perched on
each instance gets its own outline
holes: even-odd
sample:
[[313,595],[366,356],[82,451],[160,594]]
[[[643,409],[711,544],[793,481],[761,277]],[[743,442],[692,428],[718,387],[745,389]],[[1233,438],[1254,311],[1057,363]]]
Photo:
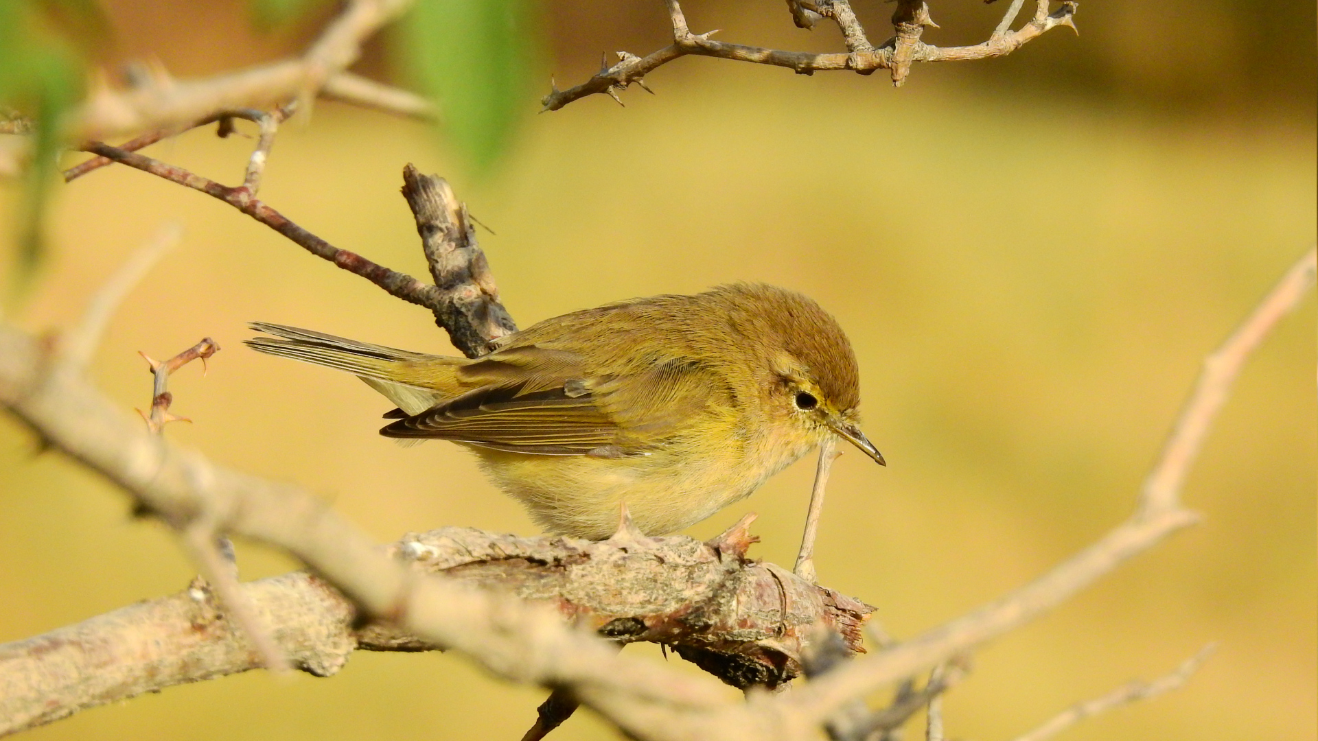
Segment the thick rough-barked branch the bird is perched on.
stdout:
[[[614,641],[667,643],[684,655],[708,657],[706,665],[717,659],[729,668],[724,679],[738,684],[772,686],[796,676],[805,634],[817,621],[846,637],[846,651],[863,650],[859,622],[871,608],[747,560],[749,545],[731,533],[708,543],[655,538],[638,550],[610,541],[444,527],[407,535],[389,554],[416,574],[444,574],[552,605]],[[274,628],[278,653],[316,676],[337,672],[355,649],[435,649],[389,622],[355,626],[352,603],[306,572],[243,584],[241,593],[256,621]],[[0,736],[144,692],[260,668],[260,651],[223,604],[232,603],[194,580],[182,593],[0,645]]]

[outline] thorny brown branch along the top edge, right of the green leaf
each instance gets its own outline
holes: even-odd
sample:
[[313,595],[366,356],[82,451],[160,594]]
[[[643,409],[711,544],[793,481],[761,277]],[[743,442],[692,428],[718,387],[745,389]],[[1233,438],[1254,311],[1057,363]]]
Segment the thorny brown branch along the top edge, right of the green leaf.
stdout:
[[568,90],[551,86],[550,94],[540,103],[546,111],[558,111],[573,100],[594,94],[605,94],[622,103],[618,92],[630,84],[645,87],[647,74],[687,55],[788,67],[803,75],[840,70],[867,75],[883,69],[891,70],[892,84],[900,86],[905,82],[913,62],[956,62],[1003,57],[1053,28],[1075,28],[1073,17],[1078,7],[1077,3],[1064,0],[1057,11],[1049,13],[1049,0],[1036,0],[1033,17],[1020,29],[1012,32],[1010,30],[1011,22],[1019,13],[1021,1],[1012,3],[987,41],[973,46],[940,47],[920,41],[925,26],[937,28],[937,24],[929,17],[928,5],[923,0],[898,0],[898,8],[892,13],[895,36],[883,46],[875,47],[865,36],[865,29],[861,28],[847,0],[788,0],[788,8],[796,25],[811,28],[815,17],[830,17],[842,30],[846,51],[816,54],[726,44],[712,40],[710,36],[714,32],[692,33],[677,0],[666,0],[672,24],[672,45],[646,57],[618,51],[617,65],[601,69],[590,79]]

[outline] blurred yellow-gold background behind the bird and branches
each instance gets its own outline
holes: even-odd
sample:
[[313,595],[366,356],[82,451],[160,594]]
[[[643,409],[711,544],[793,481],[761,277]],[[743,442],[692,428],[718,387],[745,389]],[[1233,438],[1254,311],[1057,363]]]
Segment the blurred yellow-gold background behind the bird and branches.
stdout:
[[[942,28],[924,38],[982,41],[1003,5],[934,1]],[[724,29],[725,41],[842,49],[836,28],[796,29],[780,1],[684,7],[693,30]],[[289,54],[332,12],[272,28],[243,0],[100,8],[98,63],[156,59],[178,76]],[[319,103],[279,134],[262,199],[337,247],[423,276],[401,170],[440,173],[497,232],[480,239],[522,326],[738,280],[815,297],[855,345],[866,431],[890,461],[838,461],[818,571],[878,605],[899,638],[1020,585],[1124,518],[1203,356],[1315,236],[1309,0],[1083,3],[1078,37],[1057,29],[1007,58],[917,65],[899,90],[883,71],[807,78],[687,58],[650,75],[655,96],[631,88],[625,108],[594,96],[543,115],[550,74],[567,87],[601,51],[610,63],[616,50],[652,51],[670,38],[667,17],[641,0],[525,9],[518,53],[534,74],[506,86],[501,138],[473,145],[456,129]],[[891,5],[857,11],[875,42],[887,38]],[[390,50],[401,44],[385,34],[358,71],[406,82]],[[250,145],[207,129],[146,152],[235,183]],[[260,319],[452,352],[428,312],[136,170],[50,193],[42,264],[7,310],[33,331],[69,326],[162,223],[185,225],[96,357],[95,380],[125,414],[149,405],[137,351],[163,357],[208,335],[224,348],[208,374],[188,367],[171,381],[174,410],[195,421],[170,426],[175,442],[304,485],[380,541],[442,525],[535,531],[456,446],[378,436],[390,405],[362,384],[240,344]],[[0,185],[7,276],[21,203],[17,185]],[[1310,295],[1249,360],[1209,438],[1185,489],[1203,523],[978,651],[945,701],[949,737],[1014,737],[1217,641],[1184,690],[1064,738],[1315,738],[1314,309]],[[37,447],[0,418],[0,641],[186,585],[192,566],[159,523],[130,518],[123,494]],[[763,541],[751,555],[791,563],[812,467],[691,534],[754,510]],[[294,567],[239,550],[245,576]],[[652,646],[627,650],[663,661]],[[249,672],[28,737],[511,740],[542,699],[457,657],[358,653],[330,679]],[[583,711],[554,737],[616,734]]]

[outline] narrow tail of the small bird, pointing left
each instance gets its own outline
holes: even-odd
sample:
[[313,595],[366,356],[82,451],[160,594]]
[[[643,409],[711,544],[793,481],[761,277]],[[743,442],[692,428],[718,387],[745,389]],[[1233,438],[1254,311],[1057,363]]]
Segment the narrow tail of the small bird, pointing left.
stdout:
[[245,340],[252,349],[352,373],[407,414],[419,414],[460,393],[456,376],[465,359],[360,343],[266,322],[248,326],[273,335]]

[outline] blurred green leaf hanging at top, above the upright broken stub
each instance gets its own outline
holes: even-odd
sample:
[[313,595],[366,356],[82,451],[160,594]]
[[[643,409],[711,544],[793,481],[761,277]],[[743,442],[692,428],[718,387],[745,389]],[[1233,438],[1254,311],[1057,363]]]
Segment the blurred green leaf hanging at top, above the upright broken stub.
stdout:
[[399,67],[439,100],[443,129],[477,171],[534,109],[539,28],[526,0],[420,0],[402,24]]

